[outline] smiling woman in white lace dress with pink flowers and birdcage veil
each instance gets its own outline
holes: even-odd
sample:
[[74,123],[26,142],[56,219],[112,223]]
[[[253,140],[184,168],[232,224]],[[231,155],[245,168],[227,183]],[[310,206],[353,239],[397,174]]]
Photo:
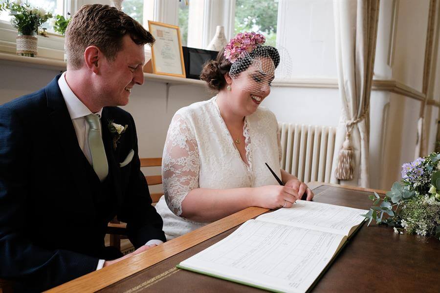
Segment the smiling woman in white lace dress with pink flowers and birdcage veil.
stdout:
[[[241,33],[203,68],[217,96],[179,109],[163,151],[164,196],[156,205],[167,239],[247,207],[290,208],[313,192],[280,168],[277,120],[259,106],[280,63],[264,36]],[[280,186],[264,163],[281,178]]]

